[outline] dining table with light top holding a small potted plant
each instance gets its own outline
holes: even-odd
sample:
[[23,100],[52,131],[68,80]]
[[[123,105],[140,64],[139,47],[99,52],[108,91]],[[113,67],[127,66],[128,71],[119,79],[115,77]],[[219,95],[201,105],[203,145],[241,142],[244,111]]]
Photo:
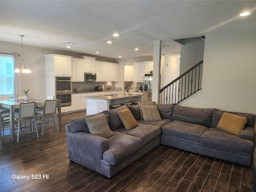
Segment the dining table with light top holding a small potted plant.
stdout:
[[[0,100],[1,108],[3,107],[3,108],[10,109],[10,137],[12,139],[12,142],[14,142],[15,109],[19,108],[19,105],[21,102],[36,102],[36,105],[42,105],[42,104],[44,104],[45,100],[47,100],[47,98],[41,98],[41,97],[32,97],[29,99],[29,101],[24,100],[24,98],[10,98],[10,99],[1,99]],[[57,100],[59,129],[61,129],[61,108],[60,107],[61,107],[60,100]]]

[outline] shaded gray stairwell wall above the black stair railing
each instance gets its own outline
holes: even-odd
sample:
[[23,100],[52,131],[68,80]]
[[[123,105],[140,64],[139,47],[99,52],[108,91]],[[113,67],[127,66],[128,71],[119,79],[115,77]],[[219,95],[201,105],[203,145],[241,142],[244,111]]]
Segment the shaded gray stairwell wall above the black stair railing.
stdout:
[[204,58],[204,40],[199,37],[187,38],[180,48],[180,75]]

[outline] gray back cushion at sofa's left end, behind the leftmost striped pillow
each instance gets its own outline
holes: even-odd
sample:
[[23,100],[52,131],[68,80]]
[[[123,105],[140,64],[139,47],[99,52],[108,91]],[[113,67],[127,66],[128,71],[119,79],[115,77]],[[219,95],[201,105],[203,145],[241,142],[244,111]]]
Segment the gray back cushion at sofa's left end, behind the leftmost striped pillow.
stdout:
[[[71,133],[77,133],[77,132],[87,132],[90,133],[88,126],[86,124],[86,118],[88,117],[93,117],[96,115],[102,114],[102,112],[93,114],[93,115],[87,115],[87,116],[82,116],[78,118],[74,118],[70,121],[70,131]],[[108,114],[105,114],[106,120],[108,122]]]

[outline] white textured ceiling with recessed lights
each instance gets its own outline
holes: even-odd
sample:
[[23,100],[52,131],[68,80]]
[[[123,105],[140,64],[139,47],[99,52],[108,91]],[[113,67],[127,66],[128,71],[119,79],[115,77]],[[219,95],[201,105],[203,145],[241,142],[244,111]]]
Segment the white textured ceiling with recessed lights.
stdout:
[[[155,40],[162,40],[167,54],[180,51],[174,39],[256,28],[255,8],[255,0],[1,0],[0,40],[21,44],[22,34],[24,45],[67,50],[62,42],[72,42],[68,51],[152,56]],[[238,16],[244,11],[251,14]]]

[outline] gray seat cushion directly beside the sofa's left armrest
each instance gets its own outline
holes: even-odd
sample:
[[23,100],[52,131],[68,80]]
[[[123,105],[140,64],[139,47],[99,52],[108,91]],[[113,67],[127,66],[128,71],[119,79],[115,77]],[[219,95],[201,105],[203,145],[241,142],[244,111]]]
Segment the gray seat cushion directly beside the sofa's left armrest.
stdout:
[[113,132],[114,135],[108,138],[108,150],[103,153],[103,159],[109,164],[114,165],[142,148],[143,142],[140,138]]

